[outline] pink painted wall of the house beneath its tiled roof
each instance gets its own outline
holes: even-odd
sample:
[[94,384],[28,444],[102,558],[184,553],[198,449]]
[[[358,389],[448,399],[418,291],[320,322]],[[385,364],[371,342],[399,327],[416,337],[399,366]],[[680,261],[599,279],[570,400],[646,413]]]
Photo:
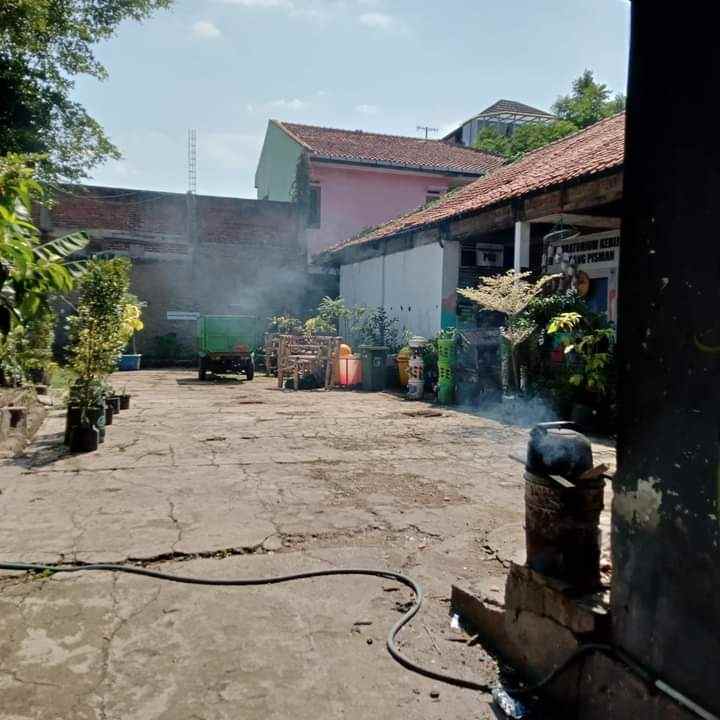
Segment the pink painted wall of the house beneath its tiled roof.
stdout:
[[312,163],[312,179],[320,184],[321,222],[307,231],[310,255],[387,222],[425,202],[428,190],[445,192],[442,176]]

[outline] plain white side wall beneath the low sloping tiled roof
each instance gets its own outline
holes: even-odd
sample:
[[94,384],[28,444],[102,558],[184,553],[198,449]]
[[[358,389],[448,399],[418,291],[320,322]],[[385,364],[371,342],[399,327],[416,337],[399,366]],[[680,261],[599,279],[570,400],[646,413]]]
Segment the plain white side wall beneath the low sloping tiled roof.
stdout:
[[442,293],[443,249],[437,243],[340,268],[346,305],[384,305],[413,335],[438,333]]

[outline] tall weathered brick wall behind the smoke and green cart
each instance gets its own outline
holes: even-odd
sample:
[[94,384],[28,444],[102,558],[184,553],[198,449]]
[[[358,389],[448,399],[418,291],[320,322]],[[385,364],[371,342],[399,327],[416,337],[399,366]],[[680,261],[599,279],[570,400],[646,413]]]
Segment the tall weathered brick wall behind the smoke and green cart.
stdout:
[[147,302],[137,346],[148,359],[194,354],[195,323],[168,320],[169,310],[265,320],[280,312],[307,314],[323,295],[337,294],[335,276],[307,271],[291,203],[211,196],[191,202],[196,241],[188,198],[178,193],[73,186],[37,218],[53,237],[85,231],[90,253],[132,259],[132,290]]

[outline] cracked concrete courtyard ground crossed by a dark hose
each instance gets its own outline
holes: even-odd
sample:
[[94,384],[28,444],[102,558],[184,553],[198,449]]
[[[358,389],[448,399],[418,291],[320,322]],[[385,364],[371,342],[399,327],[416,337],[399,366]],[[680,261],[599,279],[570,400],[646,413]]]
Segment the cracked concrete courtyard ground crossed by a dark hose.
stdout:
[[[397,569],[426,590],[402,649],[495,679],[493,658],[450,629],[448,598],[460,581],[502,602],[508,562],[522,561],[522,469],[508,453],[524,452],[527,428],[264,378],[115,382],[133,405],[98,452],[65,454],[54,410],[25,456],[0,465],[2,560],[136,561],[212,578]],[[607,444],[595,452],[612,461]],[[1,573],[0,718],[493,717],[487,696],[388,656],[410,597],[358,577],[246,589]]]

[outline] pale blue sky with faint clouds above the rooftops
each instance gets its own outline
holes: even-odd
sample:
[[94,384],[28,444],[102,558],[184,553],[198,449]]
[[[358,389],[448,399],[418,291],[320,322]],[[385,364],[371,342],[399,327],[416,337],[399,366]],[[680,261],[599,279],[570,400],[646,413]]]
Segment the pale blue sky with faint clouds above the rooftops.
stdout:
[[499,98],[549,109],[584,68],[627,75],[625,0],[176,0],[98,48],[75,97],[123,159],[88,182],[255,197],[268,118],[418,135]]

